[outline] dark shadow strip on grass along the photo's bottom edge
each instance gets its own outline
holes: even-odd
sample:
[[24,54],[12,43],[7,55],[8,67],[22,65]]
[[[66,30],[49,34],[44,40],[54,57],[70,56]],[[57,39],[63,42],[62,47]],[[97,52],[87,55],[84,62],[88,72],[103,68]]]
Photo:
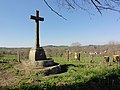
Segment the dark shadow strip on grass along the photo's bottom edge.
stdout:
[[120,90],[120,75],[110,75],[105,79],[93,78],[86,83],[71,85],[23,85],[20,90]]

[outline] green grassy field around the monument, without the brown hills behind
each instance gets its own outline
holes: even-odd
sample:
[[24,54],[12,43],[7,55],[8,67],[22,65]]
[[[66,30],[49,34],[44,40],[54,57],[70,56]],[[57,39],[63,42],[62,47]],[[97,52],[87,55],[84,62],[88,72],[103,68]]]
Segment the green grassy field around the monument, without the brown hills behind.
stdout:
[[[120,66],[111,59],[109,64],[105,64],[102,56],[94,57],[92,63],[89,63],[91,57],[85,56],[80,61],[53,57],[55,62],[61,64],[62,72],[49,76],[42,72],[22,75],[14,68],[19,64],[16,56],[0,57],[3,58],[9,62],[0,63],[0,72],[4,72],[4,79],[0,78],[0,90],[120,90]],[[5,79],[7,76],[13,80]],[[5,81],[2,80],[6,80],[6,83],[3,84]]]

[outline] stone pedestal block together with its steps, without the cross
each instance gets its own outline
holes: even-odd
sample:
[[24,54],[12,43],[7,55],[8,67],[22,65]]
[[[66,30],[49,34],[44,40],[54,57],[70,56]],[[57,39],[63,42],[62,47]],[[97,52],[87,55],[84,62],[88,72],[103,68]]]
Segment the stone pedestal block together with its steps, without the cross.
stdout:
[[23,62],[25,67],[29,69],[42,69],[49,74],[61,72],[61,67],[58,63],[55,63],[52,59],[46,58],[45,51],[42,47],[31,48],[29,53],[29,62]]

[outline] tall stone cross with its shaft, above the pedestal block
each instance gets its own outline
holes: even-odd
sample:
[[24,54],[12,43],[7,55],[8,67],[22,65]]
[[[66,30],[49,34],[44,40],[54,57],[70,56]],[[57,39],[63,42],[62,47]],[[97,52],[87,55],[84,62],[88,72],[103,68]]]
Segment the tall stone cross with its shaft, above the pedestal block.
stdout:
[[39,17],[39,11],[36,10],[36,16],[30,16],[30,19],[35,20],[36,22],[36,36],[35,36],[35,47],[38,48],[39,45],[39,21],[44,21],[44,18]]

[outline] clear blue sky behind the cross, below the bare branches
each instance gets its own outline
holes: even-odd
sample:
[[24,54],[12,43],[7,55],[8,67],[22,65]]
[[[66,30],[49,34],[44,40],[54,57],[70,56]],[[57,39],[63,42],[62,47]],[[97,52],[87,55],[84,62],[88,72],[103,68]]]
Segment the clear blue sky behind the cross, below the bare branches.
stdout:
[[33,47],[35,43],[35,22],[30,15],[40,11],[44,21],[40,22],[40,46],[103,45],[109,41],[120,41],[120,14],[96,10],[89,15],[82,10],[55,10],[67,20],[52,12],[43,0],[1,0],[0,1],[0,47]]

